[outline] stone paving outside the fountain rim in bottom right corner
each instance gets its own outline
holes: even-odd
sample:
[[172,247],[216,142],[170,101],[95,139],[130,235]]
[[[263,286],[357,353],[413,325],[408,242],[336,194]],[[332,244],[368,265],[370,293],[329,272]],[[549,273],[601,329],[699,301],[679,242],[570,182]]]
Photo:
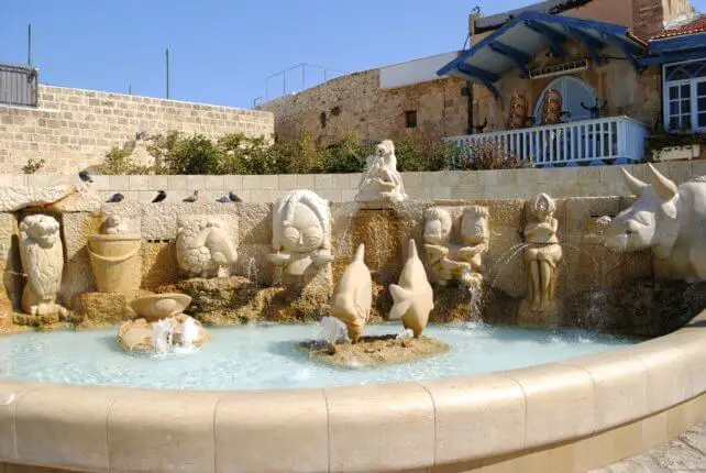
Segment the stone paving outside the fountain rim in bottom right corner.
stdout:
[[699,424],[669,443],[613,463],[592,473],[706,472],[706,422]]

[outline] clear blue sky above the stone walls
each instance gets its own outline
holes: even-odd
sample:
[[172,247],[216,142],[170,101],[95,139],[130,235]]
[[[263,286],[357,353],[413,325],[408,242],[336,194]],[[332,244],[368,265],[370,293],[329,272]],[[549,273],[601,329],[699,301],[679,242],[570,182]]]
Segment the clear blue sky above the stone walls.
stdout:
[[[282,94],[282,76],[308,63],[355,72],[461,48],[467,13],[486,15],[528,0],[3,0],[0,62],[33,63],[43,84],[164,96],[165,48],[172,98],[250,108]],[[703,11],[706,0],[693,2]],[[308,67],[306,85],[322,72]],[[301,88],[301,69],[287,91]]]

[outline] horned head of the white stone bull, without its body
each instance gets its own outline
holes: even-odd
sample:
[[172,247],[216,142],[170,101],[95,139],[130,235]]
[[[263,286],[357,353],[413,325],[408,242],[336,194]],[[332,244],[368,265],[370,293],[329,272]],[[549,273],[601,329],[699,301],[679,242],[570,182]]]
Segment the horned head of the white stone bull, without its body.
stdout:
[[657,257],[668,257],[679,231],[676,185],[651,164],[648,164],[648,176],[652,184],[643,183],[625,168],[620,170],[622,180],[638,200],[606,229],[606,246],[617,252],[650,248]]

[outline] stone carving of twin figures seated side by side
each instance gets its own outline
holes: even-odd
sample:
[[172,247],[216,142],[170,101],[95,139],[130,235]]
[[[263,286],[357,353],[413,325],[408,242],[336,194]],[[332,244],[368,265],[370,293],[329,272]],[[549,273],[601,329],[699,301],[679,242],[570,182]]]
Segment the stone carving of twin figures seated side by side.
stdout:
[[453,219],[449,210],[432,207],[424,211],[427,264],[437,284],[455,279],[464,286],[479,284],[482,254],[487,249],[488,224],[485,207],[466,207],[461,223],[461,244],[452,243]]

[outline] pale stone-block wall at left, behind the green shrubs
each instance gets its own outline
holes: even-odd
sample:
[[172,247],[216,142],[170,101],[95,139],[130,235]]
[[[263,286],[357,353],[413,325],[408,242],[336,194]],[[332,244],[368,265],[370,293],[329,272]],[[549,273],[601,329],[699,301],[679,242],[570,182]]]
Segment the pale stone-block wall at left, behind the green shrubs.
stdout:
[[45,160],[43,173],[74,174],[137,132],[169,130],[269,136],[274,119],[265,111],[41,85],[37,108],[0,105],[0,172],[20,173],[32,158]]

